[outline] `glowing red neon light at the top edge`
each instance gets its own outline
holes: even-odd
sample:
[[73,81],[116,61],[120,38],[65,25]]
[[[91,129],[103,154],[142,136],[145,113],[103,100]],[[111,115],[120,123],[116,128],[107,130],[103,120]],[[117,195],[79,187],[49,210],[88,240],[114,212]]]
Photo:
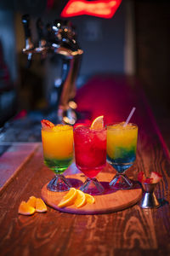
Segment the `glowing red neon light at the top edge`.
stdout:
[[100,18],[111,19],[122,0],[70,0],[63,9],[61,17],[78,15],[93,15]]

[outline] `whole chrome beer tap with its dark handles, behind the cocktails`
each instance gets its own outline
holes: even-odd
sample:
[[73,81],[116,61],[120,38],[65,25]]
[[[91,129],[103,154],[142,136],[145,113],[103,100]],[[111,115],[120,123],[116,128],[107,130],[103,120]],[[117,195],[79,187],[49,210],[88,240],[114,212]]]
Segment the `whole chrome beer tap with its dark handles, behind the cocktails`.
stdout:
[[37,20],[37,48],[31,43],[30,17],[22,16],[22,23],[26,35],[26,48],[23,53],[28,55],[28,64],[31,65],[32,54],[41,54],[44,60],[48,53],[59,55],[62,59],[61,84],[58,90],[58,102],[56,102],[57,115],[60,122],[74,125],[77,121],[76,79],[80,67],[83,51],[77,44],[75,28],[69,20],[54,20],[53,25],[46,26],[47,34],[44,34],[41,19]]

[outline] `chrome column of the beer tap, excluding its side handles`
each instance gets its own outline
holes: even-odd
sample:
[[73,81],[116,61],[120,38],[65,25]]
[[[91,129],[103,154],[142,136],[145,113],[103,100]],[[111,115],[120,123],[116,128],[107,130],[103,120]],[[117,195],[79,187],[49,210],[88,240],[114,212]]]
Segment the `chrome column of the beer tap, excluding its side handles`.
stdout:
[[70,21],[65,20],[62,23],[60,20],[55,20],[53,28],[56,37],[60,40],[59,48],[56,48],[55,52],[61,56],[63,72],[66,73],[60,84],[58,116],[60,121],[74,125],[77,120],[75,112],[77,103],[74,102],[76,80],[83,51],[77,44],[76,33]]

